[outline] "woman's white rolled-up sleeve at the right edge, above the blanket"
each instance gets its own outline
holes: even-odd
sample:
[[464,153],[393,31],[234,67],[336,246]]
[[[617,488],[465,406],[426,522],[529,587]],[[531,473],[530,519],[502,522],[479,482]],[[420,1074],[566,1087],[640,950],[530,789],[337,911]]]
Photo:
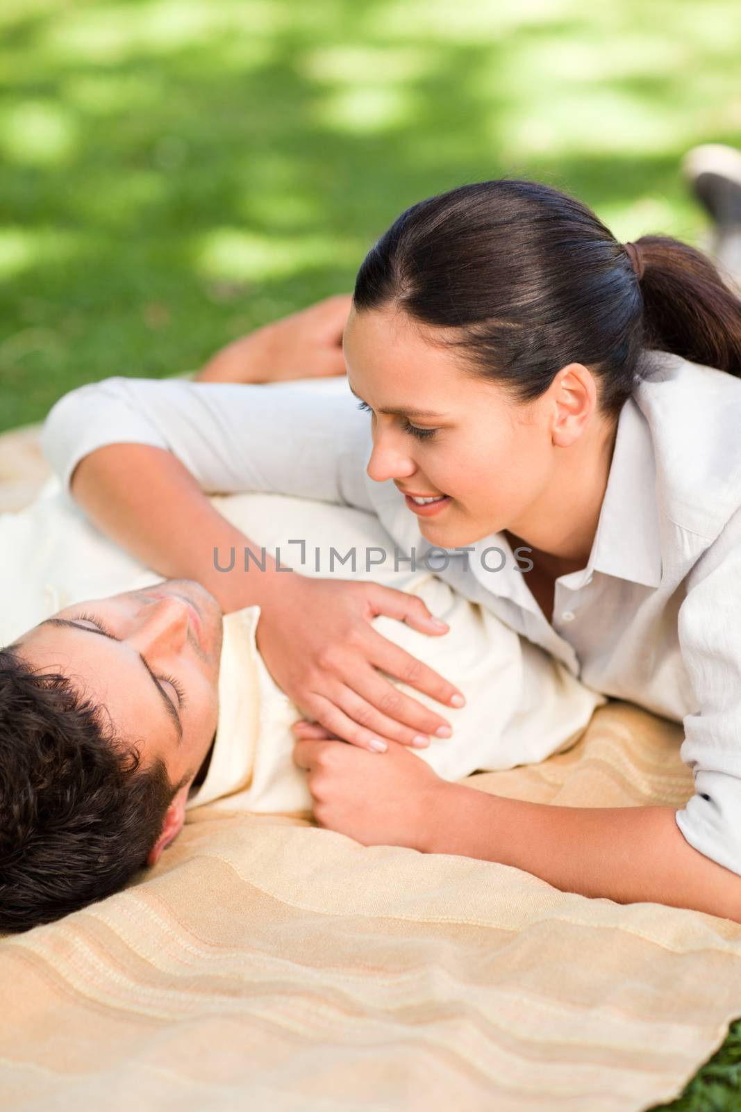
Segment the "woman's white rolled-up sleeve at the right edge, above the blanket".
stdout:
[[680,756],[695,792],[677,825],[741,875],[741,510],[688,577],[679,641],[699,709],[683,719]]

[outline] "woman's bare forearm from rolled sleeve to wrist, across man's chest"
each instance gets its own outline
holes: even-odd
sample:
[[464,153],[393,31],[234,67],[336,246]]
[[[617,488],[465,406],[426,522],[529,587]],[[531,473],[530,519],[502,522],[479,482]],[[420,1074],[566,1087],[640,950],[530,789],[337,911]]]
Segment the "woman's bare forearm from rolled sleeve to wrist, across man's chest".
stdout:
[[[84,456],[71,480],[74,499],[101,533],[164,578],[196,579],[224,613],[260,605],[276,585],[276,562],[266,553],[266,570],[243,549],[260,546],[216,510],[193,476],[171,453],[142,444],[111,444]],[[237,549],[234,568],[230,548]]]

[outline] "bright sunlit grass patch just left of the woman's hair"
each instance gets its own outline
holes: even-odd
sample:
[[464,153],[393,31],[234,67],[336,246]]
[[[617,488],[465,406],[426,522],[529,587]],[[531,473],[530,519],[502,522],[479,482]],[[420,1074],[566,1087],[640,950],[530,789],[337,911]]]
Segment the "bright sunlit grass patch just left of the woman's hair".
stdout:
[[260,281],[318,267],[360,262],[356,244],[328,236],[258,236],[239,228],[214,228],[194,249],[198,272],[208,279]]

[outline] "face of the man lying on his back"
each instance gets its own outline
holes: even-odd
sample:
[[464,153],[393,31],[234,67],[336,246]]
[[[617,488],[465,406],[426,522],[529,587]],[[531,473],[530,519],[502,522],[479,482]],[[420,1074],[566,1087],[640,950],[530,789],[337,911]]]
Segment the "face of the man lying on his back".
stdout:
[[67,606],[16,644],[41,672],[72,678],[144,766],[159,756],[178,783],[194,777],[216,733],[221,638],[216,598],[167,579]]

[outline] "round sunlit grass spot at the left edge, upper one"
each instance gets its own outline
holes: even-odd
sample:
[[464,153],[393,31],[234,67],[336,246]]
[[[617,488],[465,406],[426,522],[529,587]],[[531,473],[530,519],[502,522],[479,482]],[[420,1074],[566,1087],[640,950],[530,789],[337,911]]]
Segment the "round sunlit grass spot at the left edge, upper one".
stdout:
[[53,166],[78,145],[77,121],[51,100],[21,100],[0,116],[0,150],[9,162]]

